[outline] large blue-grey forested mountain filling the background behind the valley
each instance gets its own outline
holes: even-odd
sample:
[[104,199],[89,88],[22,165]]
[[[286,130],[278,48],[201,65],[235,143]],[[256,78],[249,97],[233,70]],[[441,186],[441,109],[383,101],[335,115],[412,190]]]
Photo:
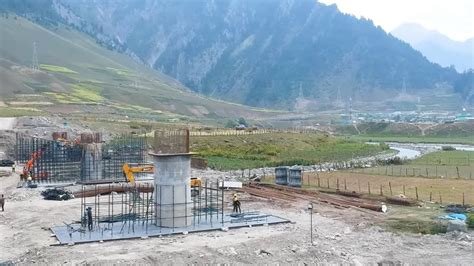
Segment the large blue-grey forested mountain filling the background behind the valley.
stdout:
[[472,72],[432,63],[372,21],[315,0],[11,0],[2,8],[44,27],[68,25],[194,92],[250,106],[474,103]]

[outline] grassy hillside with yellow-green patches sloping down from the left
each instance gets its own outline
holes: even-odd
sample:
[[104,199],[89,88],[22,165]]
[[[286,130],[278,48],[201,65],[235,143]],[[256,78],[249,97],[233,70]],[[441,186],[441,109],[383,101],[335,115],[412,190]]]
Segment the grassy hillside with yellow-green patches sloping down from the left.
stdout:
[[[36,43],[39,71],[32,70]],[[69,27],[0,17],[0,109],[219,119],[274,115],[212,100]]]

